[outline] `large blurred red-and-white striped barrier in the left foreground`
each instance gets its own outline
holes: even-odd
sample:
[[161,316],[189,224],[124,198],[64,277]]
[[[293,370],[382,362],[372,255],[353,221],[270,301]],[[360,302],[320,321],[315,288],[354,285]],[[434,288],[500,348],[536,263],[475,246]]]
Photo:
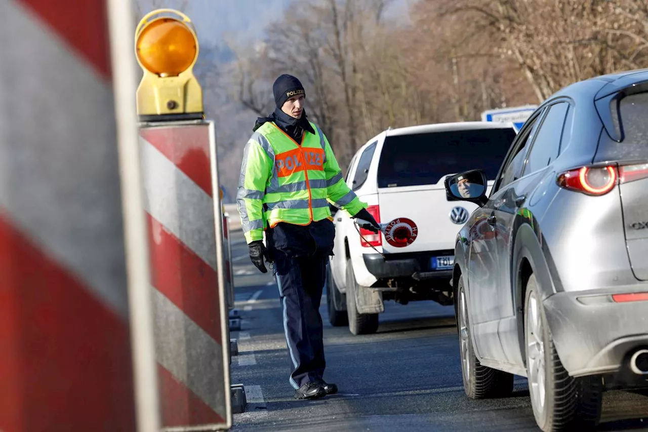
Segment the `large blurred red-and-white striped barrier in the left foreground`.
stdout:
[[[131,19],[130,2],[118,3],[0,6],[3,432],[158,427],[155,398],[133,391],[133,358],[146,360],[149,349],[152,359],[153,342],[129,325],[147,305],[129,304],[128,282],[146,282],[148,269],[132,259],[146,257],[144,220],[123,219],[133,208],[141,214],[141,203],[137,152],[124,145],[137,142],[132,94],[125,105],[123,93],[113,95],[113,84],[135,88],[132,60],[124,60],[132,51],[113,50],[111,60],[109,40],[131,38],[118,23],[108,32],[109,16],[124,10]],[[115,108],[130,120],[116,124]],[[135,192],[122,196],[120,174],[134,179]],[[132,339],[143,353],[131,350]],[[143,365],[135,361],[135,371],[151,369]],[[154,379],[142,380],[155,389]]]

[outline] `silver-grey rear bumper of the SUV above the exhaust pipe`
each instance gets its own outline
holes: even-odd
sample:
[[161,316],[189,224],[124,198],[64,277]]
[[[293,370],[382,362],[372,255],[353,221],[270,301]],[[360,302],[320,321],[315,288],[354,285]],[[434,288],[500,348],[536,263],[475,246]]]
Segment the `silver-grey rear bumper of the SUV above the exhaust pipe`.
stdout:
[[610,294],[557,293],[544,300],[553,342],[570,376],[628,370],[632,354],[648,348],[648,302],[616,303],[606,300]]

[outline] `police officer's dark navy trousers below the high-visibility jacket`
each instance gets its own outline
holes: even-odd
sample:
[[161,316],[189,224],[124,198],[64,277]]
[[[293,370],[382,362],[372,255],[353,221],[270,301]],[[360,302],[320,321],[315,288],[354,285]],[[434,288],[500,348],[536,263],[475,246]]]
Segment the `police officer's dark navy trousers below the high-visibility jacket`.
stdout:
[[266,231],[292,365],[289,381],[295,389],[323,378],[326,361],[319,304],[334,237],[335,228],[327,220],[309,226],[282,223]]

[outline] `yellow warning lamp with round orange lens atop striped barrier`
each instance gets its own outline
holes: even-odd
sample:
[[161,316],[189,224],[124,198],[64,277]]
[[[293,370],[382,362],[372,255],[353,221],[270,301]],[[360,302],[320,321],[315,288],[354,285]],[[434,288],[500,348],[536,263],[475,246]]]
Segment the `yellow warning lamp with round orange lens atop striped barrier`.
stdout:
[[202,88],[193,73],[198,37],[189,17],[174,9],[146,14],[135,29],[135,56],[144,72],[137,88],[141,121],[205,118]]

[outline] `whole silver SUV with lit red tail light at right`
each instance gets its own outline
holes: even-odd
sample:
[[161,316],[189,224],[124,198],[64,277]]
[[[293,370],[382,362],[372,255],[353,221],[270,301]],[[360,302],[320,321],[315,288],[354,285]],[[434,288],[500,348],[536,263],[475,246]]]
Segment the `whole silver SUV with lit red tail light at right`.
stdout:
[[603,390],[648,384],[648,71],[551,96],[489,197],[480,170],[445,187],[480,206],[452,282],[468,396],[526,376],[540,429],[575,430],[597,424]]

